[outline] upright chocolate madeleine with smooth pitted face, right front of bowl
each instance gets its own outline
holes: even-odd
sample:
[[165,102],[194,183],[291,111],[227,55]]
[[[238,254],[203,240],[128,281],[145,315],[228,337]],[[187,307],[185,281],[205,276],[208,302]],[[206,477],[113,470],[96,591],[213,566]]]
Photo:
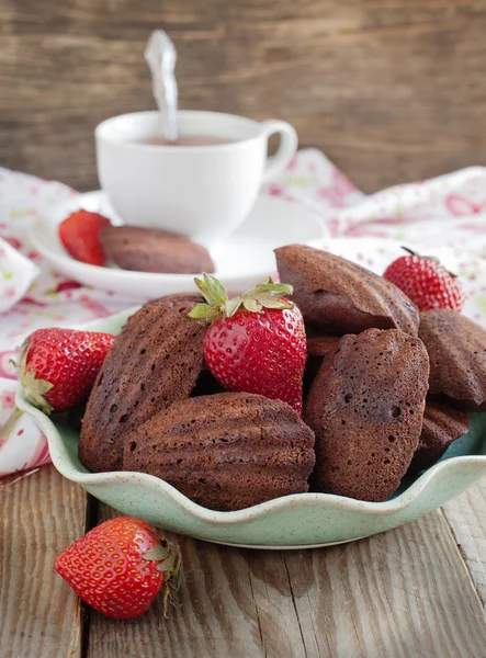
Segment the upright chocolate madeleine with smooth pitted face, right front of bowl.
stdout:
[[304,411],[316,435],[318,491],[381,501],[398,488],[419,442],[428,377],[418,338],[396,329],[342,338]]

